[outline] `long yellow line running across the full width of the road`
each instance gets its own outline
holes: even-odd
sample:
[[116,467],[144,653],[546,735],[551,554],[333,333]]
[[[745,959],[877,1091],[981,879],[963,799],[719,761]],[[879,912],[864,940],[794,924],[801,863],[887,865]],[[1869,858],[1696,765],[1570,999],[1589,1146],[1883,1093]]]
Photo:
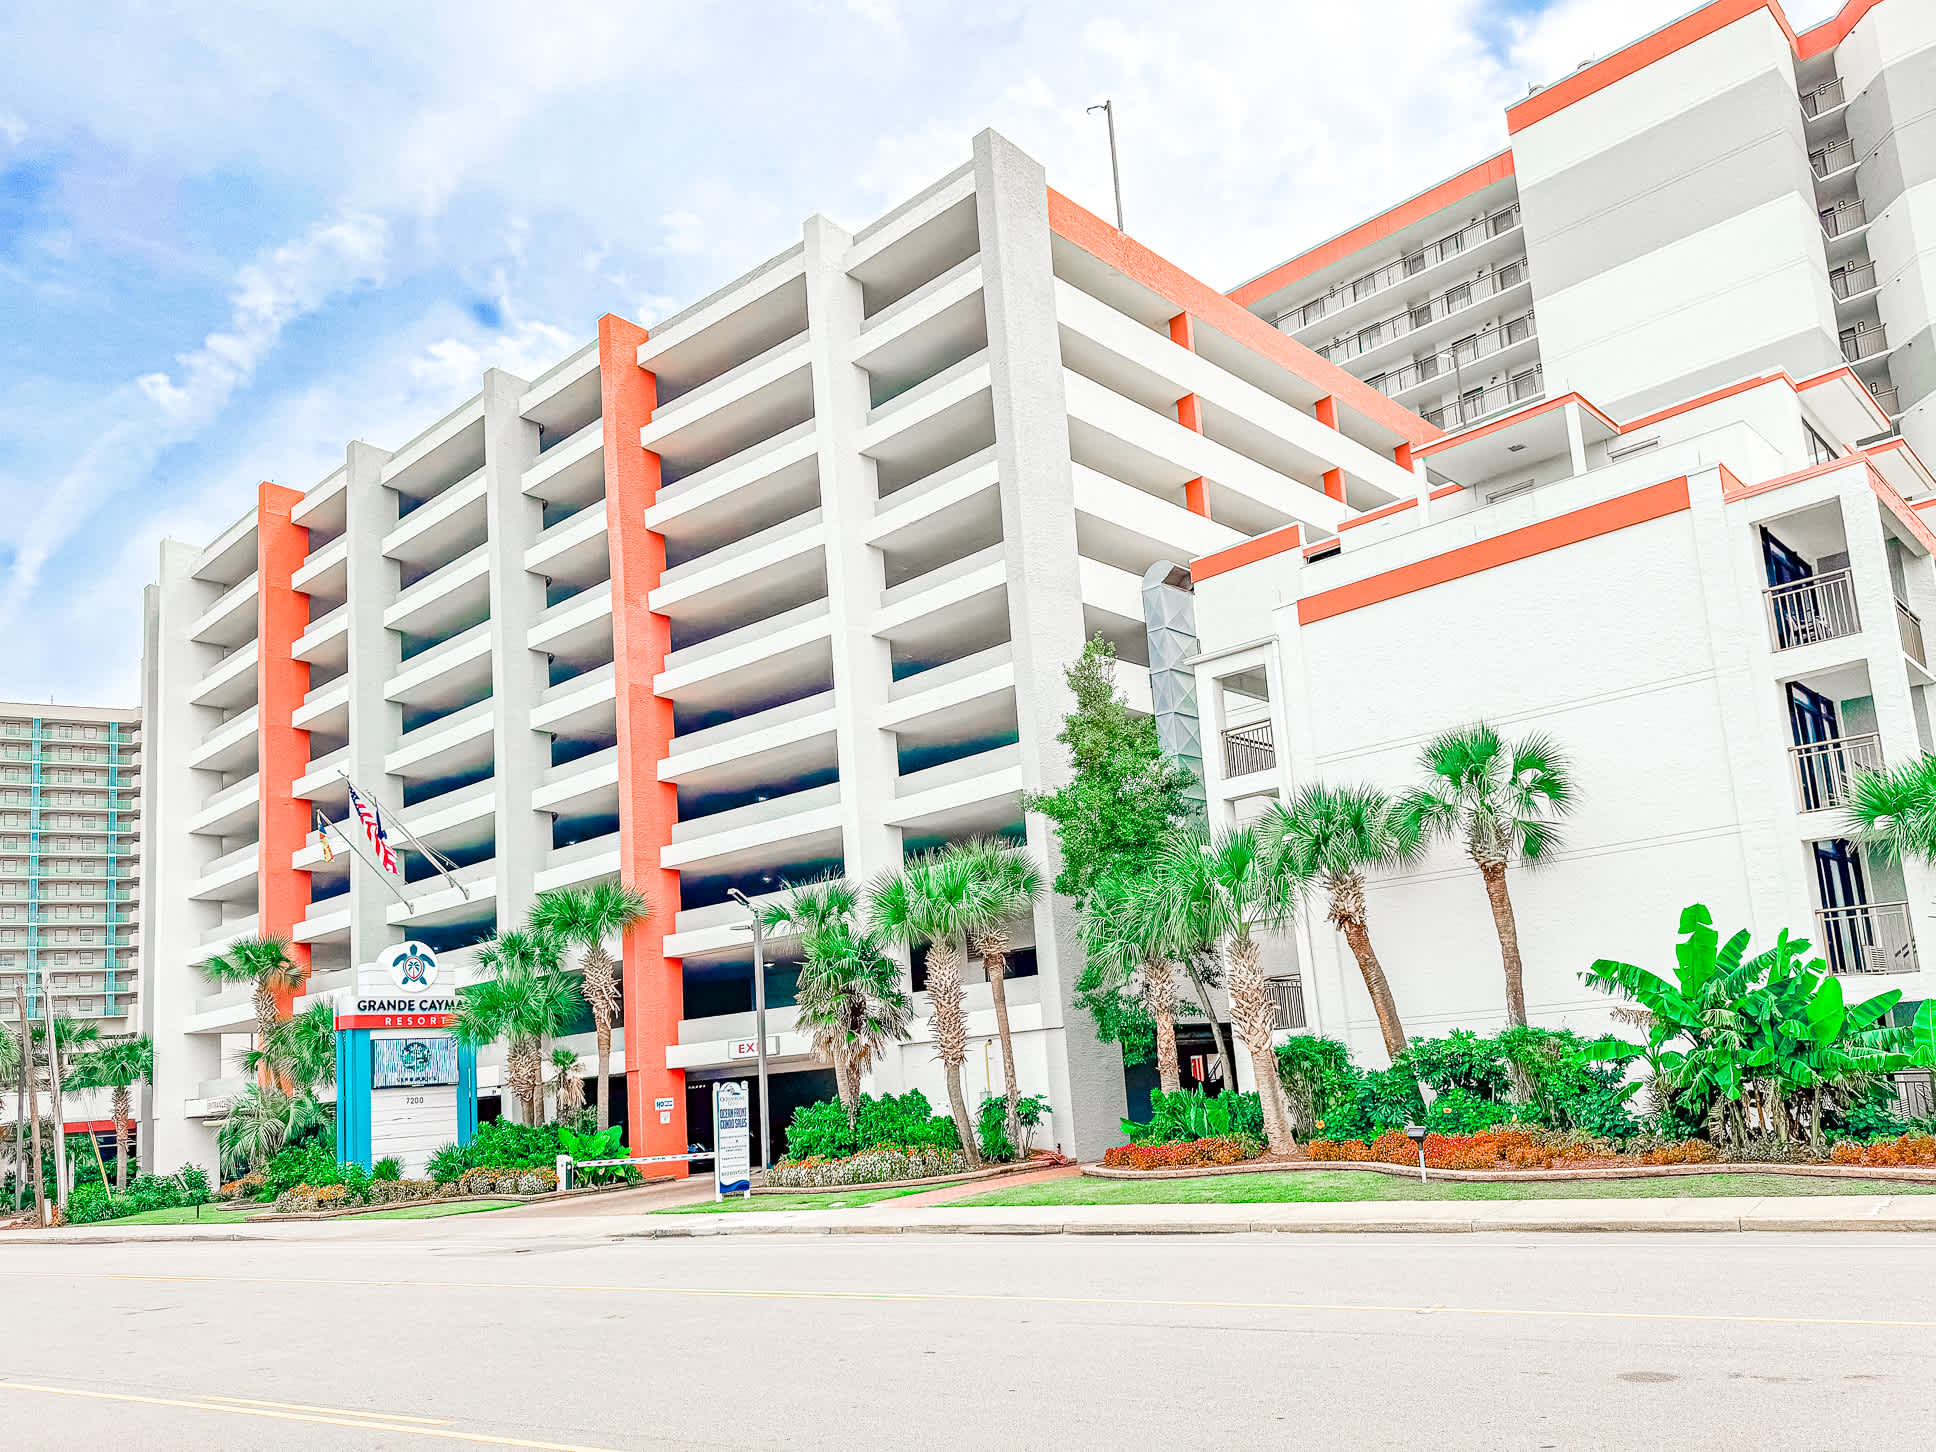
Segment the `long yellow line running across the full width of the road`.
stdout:
[[6,1280],[110,1280],[188,1286],[358,1286],[368,1289],[430,1289],[430,1291],[561,1291],[569,1295],[693,1295],[734,1301],[902,1301],[978,1303],[978,1305],[1073,1305],[1127,1307],[1156,1311],[1336,1311],[1349,1315],[1392,1316],[1520,1316],[1553,1320],[1690,1320],[1735,1326],[1884,1326],[1893,1330],[1936,1330],[1936,1320],[1886,1320],[1868,1316],[1752,1316],[1727,1313],[1682,1311],[1555,1311],[1539,1307],[1456,1307],[1456,1305],[1357,1305],[1349,1301],[1185,1301],[1146,1295],[997,1295],[991,1291],[846,1291],[846,1289],[776,1289],[734,1286],[569,1286],[546,1282],[480,1282],[480,1280],[339,1280],[321,1276],[147,1276],[134,1272],[50,1272],[25,1270],[0,1274]]

